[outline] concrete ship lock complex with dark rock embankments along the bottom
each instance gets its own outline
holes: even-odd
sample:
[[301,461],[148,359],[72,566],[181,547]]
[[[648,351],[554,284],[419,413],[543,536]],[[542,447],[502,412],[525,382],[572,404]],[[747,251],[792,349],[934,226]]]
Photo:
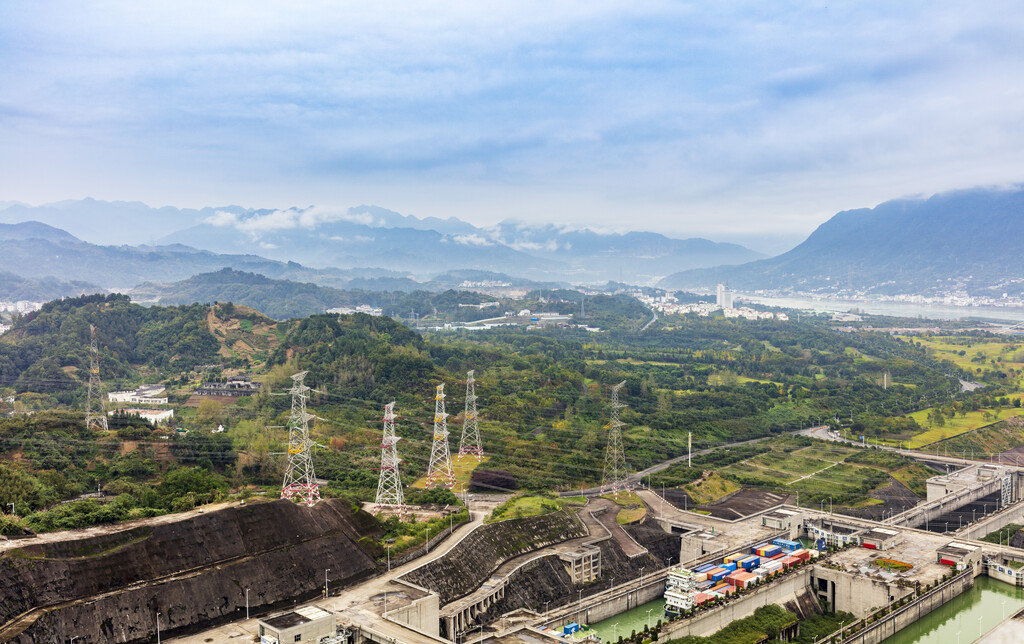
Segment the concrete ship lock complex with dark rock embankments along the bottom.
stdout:
[[[333,620],[338,644],[558,641],[566,624],[594,624],[663,597],[672,570],[805,540],[820,557],[693,614],[660,615],[660,639],[710,635],[772,603],[801,617],[822,606],[851,612],[855,624],[837,641],[874,644],[970,589],[977,575],[1024,587],[1024,550],[978,541],[1024,523],[1022,481],[1018,468],[969,462],[929,479],[929,499],[916,508],[881,521],[771,492],[758,492],[766,500],[760,508],[725,519],[641,488],[646,515],[635,523],[618,524],[620,506],[597,496],[484,523],[487,505],[474,498],[470,522],[392,560],[390,570],[367,546],[372,519],[340,502],[225,505],[101,534],[0,541],[4,587],[22,589],[5,595],[0,640],[155,641],[159,612],[168,642],[237,642],[259,637],[261,627],[285,633],[281,625],[303,614],[317,615],[317,625]],[[201,556],[186,561],[188,553]],[[276,618],[282,610],[305,613]],[[267,629],[274,624],[278,631]]]

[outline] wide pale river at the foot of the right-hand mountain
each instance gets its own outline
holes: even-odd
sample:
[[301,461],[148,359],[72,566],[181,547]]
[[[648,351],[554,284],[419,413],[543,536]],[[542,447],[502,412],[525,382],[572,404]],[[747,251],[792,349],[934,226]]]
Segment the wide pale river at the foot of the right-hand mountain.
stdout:
[[801,308],[812,311],[850,311],[857,309],[874,315],[892,315],[896,317],[922,317],[931,319],[964,319],[966,317],[983,317],[1007,321],[1024,320],[1024,308],[1002,308],[998,306],[953,306],[951,304],[918,304],[912,302],[874,302],[855,300],[817,300],[802,297],[761,297],[757,295],[739,294],[743,300],[780,306],[783,308]]

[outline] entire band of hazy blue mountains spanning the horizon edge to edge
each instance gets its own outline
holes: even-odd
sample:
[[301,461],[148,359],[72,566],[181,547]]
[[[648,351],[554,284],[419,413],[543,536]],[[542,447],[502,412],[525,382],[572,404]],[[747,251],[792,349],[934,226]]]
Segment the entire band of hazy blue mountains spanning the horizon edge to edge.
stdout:
[[[14,221],[27,218],[36,220]],[[0,281],[0,299],[167,285],[222,268],[367,291],[437,290],[473,280],[466,275],[482,281],[496,274],[506,282],[508,275],[551,285],[614,280],[668,289],[725,282],[740,291],[827,295],[999,296],[1024,290],[1024,255],[1015,243],[1024,223],[1020,188],[962,190],[840,212],[793,250],[767,259],[701,239],[514,222],[483,228],[372,206],[343,212],[177,210],[83,200],[0,204],[0,220],[11,222],[0,223],[0,271],[8,273]],[[90,242],[111,235],[157,243],[98,245],[76,231]],[[431,283],[450,271],[463,272]]]

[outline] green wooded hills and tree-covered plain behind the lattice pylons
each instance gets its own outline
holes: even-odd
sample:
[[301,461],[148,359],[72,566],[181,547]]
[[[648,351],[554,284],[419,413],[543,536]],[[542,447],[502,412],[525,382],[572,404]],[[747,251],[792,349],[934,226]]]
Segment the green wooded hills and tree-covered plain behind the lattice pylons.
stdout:
[[[548,305],[568,306],[560,301]],[[319,419],[312,433],[325,445],[314,454],[317,475],[330,481],[325,493],[361,500],[376,488],[381,407],[397,403],[401,473],[410,483],[426,469],[432,393],[441,383],[458,448],[469,370],[476,372],[486,467],[538,490],[599,482],[609,390],[623,380],[624,442],[634,469],[683,454],[690,432],[695,447],[713,446],[839,416],[868,435],[912,435],[924,428],[903,415],[945,404],[958,391],[949,375],[954,366],[886,334],[836,333],[813,320],[678,316],[641,333],[648,313],[631,302],[588,300],[588,314],[604,315],[612,329],[598,334],[419,334],[362,314],[274,323],[233,304],[146,308],[123,296],[51,302],[0,341],[0,416],[35,412],[0,417],[0,481],[17,490],[19,514],[38,515],[37,527],[166,512],[245,490],[273,495],[288,435],[286,392],[298,371],[309,372],[309,409]],[[115,419],[108,432],[82,428],[90,324],[108,388],[167,384],[174,423],[187,433],[132,419]],[[263,382],[262,393],[184,404],[204,379],[243,371]],[[212,433],[219,426],[226,431]],[[85,506],[78,512],[74,504],[44,511],[97,485],[118,495],[120,505],[106,514]]]

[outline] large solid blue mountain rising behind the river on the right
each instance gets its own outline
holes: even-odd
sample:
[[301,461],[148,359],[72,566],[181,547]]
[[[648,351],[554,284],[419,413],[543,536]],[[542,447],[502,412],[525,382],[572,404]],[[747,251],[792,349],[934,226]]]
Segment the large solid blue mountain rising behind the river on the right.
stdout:
[[793,250],[739,266],[682,271],[672,289],[724,282],[741,291],[822,294],[964,291],[1020,293],[1024,190],[971,189],[930,199],[896,200],[848,210],[824,222]]

